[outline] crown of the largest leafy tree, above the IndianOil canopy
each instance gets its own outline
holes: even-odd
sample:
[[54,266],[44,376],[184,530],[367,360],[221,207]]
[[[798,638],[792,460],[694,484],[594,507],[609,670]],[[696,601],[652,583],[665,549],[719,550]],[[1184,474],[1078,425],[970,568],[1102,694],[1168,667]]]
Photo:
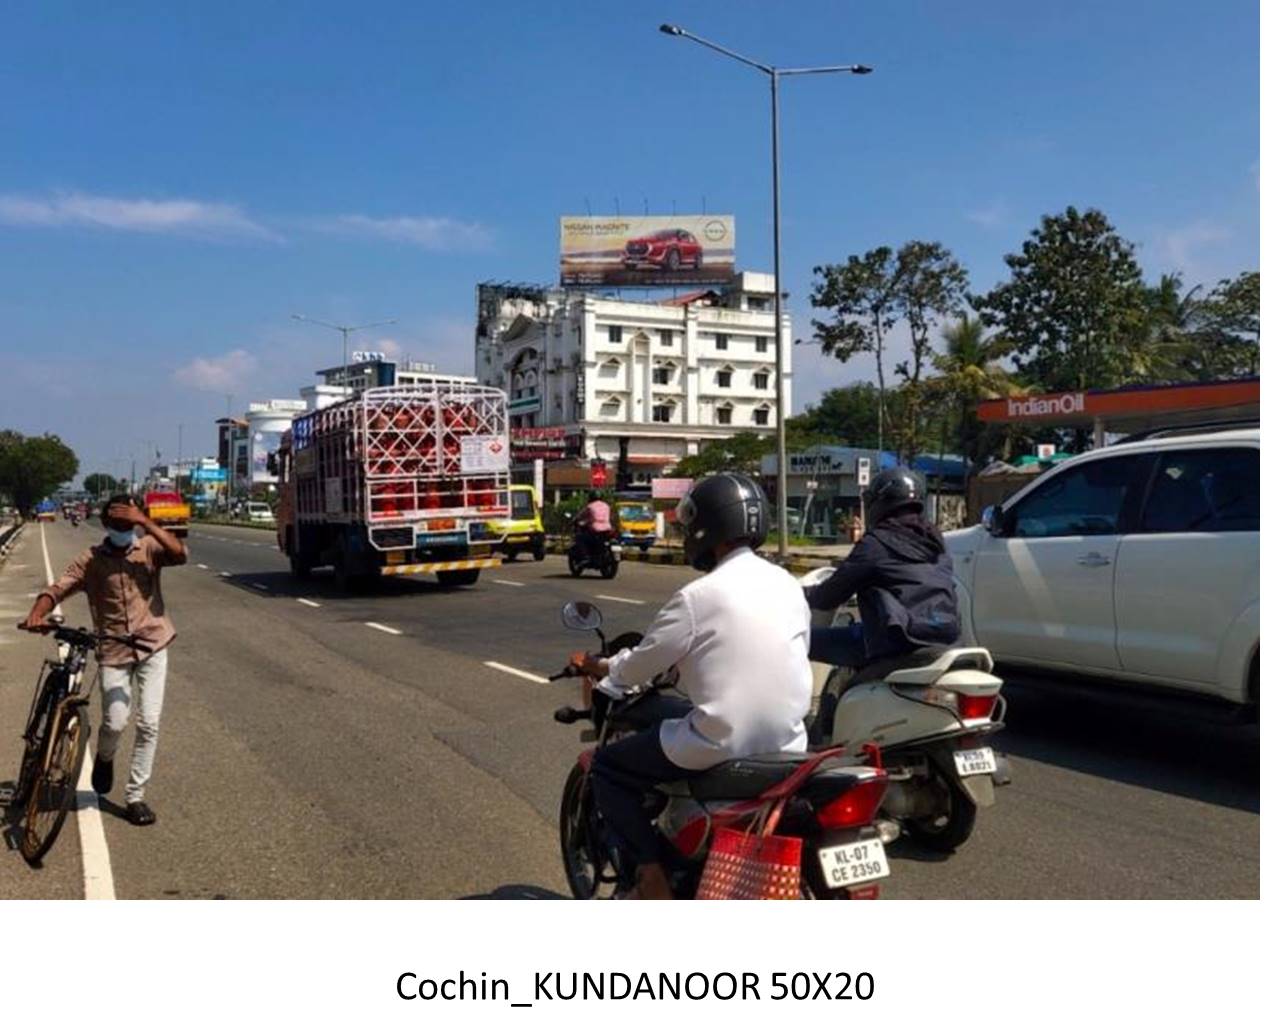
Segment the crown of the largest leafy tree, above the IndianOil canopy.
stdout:
[[1020,374],[1050,391],[1119,385],[1147,331],[1133,246],[1098,209],[1070,205],[1005,260],[1012,279],[971,304],[1013,343]]

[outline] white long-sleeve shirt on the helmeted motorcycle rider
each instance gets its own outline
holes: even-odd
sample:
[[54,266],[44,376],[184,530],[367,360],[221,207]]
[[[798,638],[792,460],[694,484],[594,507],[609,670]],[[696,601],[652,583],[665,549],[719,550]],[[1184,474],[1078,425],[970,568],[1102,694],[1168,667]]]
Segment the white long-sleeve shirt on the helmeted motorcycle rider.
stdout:
[[796,580],[746,547],[665,604],[646,640],[610,660],[609,693],[672,666],[694,704],[660,727],[663,754],[705,770],[738,756],[804,751],[813,694],[809,605]]

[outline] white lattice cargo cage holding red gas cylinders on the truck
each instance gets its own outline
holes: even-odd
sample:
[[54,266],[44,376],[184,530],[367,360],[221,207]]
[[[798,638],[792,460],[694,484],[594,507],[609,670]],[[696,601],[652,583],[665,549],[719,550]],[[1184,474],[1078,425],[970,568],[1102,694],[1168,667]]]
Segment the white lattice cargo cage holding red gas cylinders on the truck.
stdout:
[[294,448],[300,518],[373,526],[509,515],[500,389],[446,377],[368,389],[298,418]]

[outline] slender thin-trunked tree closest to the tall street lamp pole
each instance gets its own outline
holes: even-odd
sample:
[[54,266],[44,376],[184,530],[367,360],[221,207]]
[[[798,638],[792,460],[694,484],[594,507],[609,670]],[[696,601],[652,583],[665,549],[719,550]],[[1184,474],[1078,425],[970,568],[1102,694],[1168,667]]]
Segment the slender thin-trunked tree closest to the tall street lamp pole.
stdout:
[[896,256],[886,244],[865,256],[849,256],[834,266],[815,266],[809,303],[830,310],[829,320],[813,320],[814,337],[824,356],[847,362],[865,352],[875,355],[879,376],[879,442],[884,441],[884,336],[899,315]]

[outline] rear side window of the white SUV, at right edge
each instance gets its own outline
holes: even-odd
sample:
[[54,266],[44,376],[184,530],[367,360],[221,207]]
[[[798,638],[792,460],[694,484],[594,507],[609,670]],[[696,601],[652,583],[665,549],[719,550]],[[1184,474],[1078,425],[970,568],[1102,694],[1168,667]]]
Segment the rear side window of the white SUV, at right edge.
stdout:
[[1139,532],[1257,532],[1256,450],[1174,450],[1156,457]]

